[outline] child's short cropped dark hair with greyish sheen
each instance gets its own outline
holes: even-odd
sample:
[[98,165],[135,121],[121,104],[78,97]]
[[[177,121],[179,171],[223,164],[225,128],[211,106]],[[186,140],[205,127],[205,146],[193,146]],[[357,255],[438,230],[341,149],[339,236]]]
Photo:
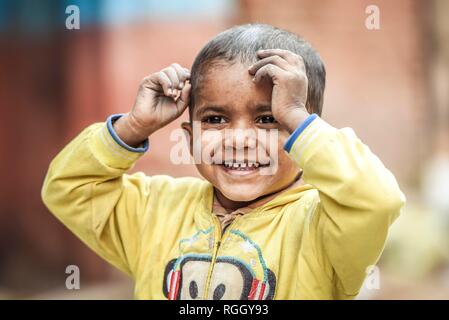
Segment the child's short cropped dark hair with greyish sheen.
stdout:
[[326,83],[326,69],[318,52],[298,35],[266,24],[246,24],[223,31],[210,40],[198,53],[191,70],[191,96],[189,114],[193,115],[195,92],[205,67],[214,63],[235,61],[254,63],[261,49],[284,49],[300,55],[309,81],[306,108],[321,115]]

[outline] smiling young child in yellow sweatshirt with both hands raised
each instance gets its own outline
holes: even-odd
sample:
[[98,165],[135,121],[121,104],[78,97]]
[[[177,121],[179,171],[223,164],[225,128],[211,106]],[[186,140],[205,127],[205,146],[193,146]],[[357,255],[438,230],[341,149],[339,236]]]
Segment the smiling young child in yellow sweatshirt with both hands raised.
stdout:
[[[354,298],[405,198],[353,130],[320,118],[324,84],[298,36],[229,29],[191,73],[173,64],[146,77],[128,114],[66,146],[43,201],[134,278],[139,299]],[[204,179],[126,174],[187,107]]]

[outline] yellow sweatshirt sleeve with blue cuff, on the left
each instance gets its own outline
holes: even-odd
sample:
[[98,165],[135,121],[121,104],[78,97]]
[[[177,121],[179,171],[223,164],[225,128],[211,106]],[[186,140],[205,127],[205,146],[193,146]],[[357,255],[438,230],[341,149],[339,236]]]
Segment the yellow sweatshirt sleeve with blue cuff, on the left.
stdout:
[[150,179],[124,174],[148,148],[114,136],[111,117],[70,142],[51,162],[42,188],[48,209],[92,250],[132,275]]

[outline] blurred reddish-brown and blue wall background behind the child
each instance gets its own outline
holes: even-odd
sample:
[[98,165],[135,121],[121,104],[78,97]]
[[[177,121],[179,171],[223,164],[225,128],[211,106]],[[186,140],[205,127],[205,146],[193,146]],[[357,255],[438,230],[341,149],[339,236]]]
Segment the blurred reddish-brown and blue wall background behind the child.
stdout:
[[[80,29],[66,28],[66,8]],[[380,29],[365,10],[376,5]],[[144,76],[190,67],[216,33],[261,22],[296,32],[327,67],[323,118],[350,126],[393,171],[408,203],[366,299],[449,298],[449,1],[0,0],[0,299],[132,298],[130,279],[43,206],[51,159],[80,130],[130,110]],[[197,175],[157,132],[134,171]],[[77,265],[81,289],[67,290]]]

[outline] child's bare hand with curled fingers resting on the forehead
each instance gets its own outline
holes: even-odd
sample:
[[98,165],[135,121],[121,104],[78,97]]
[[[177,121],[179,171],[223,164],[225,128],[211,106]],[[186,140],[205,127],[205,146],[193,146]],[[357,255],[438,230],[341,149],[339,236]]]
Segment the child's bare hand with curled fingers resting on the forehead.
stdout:
[[269,78],[273,83],[271,109],[274,118],[293,132],[309,113],[306,110],[308,79],[301,56],[282,49],[257,52],[260,58],[248,72],[259,83]]

